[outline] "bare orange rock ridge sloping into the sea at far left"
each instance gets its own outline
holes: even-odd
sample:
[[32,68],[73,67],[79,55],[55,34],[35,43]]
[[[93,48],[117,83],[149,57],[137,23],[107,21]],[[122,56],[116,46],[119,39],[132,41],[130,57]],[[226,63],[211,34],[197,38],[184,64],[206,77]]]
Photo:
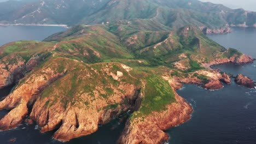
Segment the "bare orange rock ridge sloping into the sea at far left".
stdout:
[[11,110],[1,119],[1,130],[18,126],[28,113],[27,105],[33,104],[46,86],[65,73],[65,71],[58,73],[53,69],[44,69],[41,72],[42,75],[32,74],[27,80],[20,81],[15,90],[0,102],[0,110]]

